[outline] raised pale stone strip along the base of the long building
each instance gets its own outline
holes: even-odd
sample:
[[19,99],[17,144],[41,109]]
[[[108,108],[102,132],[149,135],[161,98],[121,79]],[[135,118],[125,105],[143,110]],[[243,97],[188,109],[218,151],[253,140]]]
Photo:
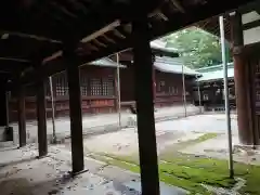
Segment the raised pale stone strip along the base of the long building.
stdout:
[[[187,115],[196,115],[199,113],[199,107],[194,105],[187,105]],[[183,106],[173,106],[173,107],[165,107],[158,108],[155,113],[156,121],[170,120],[184,116]],[[129,118],[134,118],[135,116],[123,112],[121,113],[121,126],[126,128],[129,126]],[[135,119],[134,119],[135,120]],[[82,127],[83,134],[99,134],[104,132],[112,132],[118,130],[118,114],[100,114],[94,116],[83,116],[82,118]],[[18,126],[17,123],[11,123],[11,127],[14,129],[14,141],[17,143],[18,141]],[[56,119],[55,121],[56,136],[57,139],[64,139],[70,136],[70,121],[68,117]],[[28,121],[26,123],[26,132],[27,132],[27,143],[37,142],[37,122]],[[48,140],[52,140],[52,121],[48,120],[47,122],[47,133]]]

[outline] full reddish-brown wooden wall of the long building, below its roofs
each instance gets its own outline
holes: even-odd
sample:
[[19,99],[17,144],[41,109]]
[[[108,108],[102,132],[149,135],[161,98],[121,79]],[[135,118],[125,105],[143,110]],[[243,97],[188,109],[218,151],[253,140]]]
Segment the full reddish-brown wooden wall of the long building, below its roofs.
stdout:
[[[81,80],[81,101],[82,114],[98,114],[98,113],[113,113],[116,110],[116,95],[115,95],[115,77],[116,69],[112,67],[100,66],[83,66],[80,68]],[[130,105],[134,105],[134,82],[133,82],[133,68],[120,69],[120,87],[121,87],[121,108],[127,109]],[[157,107],[181,105],[183,104],[183,87],[182,76],[178,74],[161,73],[156,70],[156,100]],[[106,84],[106,91],[100,93],[99,87],[93,84],[93,80],[101,82],[101,87]],[[107,79],[108,82],[103,81]],[[69,115],[69,96],[66,74],[61,73],[52,77],[53,91],[54,91],[54,109],[55,116],[62,117]],[[107,83],[110,91],[108,92]],[[193,102],[192,88],[193,78],[186,78],[186,101]],[[94,88],[94,90],[93,90]],[[36,98],[35,88],[29,87],[26,89],[26,119],[36,118]],[[9,101],[10,104],[10,121],[17,121],[17,103],[15,95]],[[47,82],[47,116],[51,117],[51,99],[50,88]]]

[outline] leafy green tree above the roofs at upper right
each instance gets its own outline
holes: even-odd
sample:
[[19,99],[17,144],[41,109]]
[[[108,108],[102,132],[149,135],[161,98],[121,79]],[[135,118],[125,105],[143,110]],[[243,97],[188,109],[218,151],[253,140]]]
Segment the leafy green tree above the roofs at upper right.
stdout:
[[179,50],[185,64],[193,68],[221,64],[220,39],[200,28],[180,30],[162,38],[162,41],[167,42],[167,48]]

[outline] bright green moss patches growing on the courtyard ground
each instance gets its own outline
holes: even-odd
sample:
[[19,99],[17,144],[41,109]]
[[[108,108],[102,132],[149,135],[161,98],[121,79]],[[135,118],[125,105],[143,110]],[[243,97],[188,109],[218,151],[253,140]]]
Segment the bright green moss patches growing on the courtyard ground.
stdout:
[[[216,133],[207,133],[195,140],[178,143],[177,147],[183,148],[184,146],[190,146],[216,136]],[[176,144],[173,147],[177,148]],[[170,152],[159,157],[159,178],[161,181],[185,188],[194,195],[197,193],[203,195],[210,194],[202,186],[202,183],[226,188],[234,186],[235,181],[229,178],[229,164],[226,160],[181,154],[177,150]],[[92,153],[90,157],[132,172],[140,172],[138,155],[117,156],[105,153]],[[247,181],[246,185],[239,190],[239,193],[259,195],[260,167],[235,162],[234,169],[235,177]]]

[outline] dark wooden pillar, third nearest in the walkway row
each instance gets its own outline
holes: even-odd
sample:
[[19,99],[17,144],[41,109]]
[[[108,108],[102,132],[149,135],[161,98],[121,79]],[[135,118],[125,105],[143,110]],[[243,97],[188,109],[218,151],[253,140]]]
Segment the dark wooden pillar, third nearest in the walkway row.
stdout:
[[[40,73],[39,73],[40,75]],[[39,157],[43,157],[48,154],[47,142],[47,113],[46,113],[46,84],[44,80],[39,76],[39,80],[36,86],[37,91],[37,120],[38,120],[38,150]]]

